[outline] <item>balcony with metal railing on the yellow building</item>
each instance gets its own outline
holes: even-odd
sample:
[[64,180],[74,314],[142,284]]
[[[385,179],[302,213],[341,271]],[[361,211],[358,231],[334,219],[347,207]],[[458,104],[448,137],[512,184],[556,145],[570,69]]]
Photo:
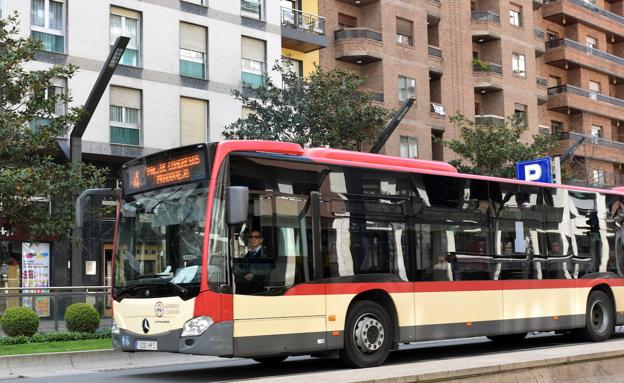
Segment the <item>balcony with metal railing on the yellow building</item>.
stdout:
[[282,7],[282,47],[312,52],[327,46],[325,18]]

